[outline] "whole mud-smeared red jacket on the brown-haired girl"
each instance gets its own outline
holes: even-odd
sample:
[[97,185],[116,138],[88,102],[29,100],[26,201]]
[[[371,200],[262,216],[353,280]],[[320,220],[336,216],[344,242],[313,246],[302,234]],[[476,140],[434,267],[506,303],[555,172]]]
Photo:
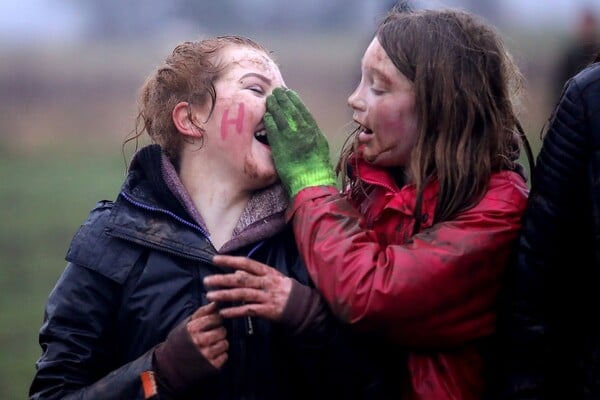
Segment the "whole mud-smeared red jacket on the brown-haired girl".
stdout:
[[[528,189],[515,172],[492,175],[484,198],[432,226],[437,184],[425,189],[422,229],[411,237],[413,185],[361,164],[361,199],[306,188],[288,214],[309,272],[343,320],[408,350],[403,399],[477,399],[481,339],[495,330],[501,275]],[[389,364],[388,364],[389,365]],[[393,371],[396,372],[396,371]]]

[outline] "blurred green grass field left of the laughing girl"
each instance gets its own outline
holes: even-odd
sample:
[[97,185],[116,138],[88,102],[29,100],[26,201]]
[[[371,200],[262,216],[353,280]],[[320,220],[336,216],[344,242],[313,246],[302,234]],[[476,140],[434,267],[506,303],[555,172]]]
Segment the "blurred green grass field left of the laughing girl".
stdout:
[[33,152],[0,147],[0,398],[26,398],[41,349],[46,298],[71,236],[95,202],[112,199],[120,148]]

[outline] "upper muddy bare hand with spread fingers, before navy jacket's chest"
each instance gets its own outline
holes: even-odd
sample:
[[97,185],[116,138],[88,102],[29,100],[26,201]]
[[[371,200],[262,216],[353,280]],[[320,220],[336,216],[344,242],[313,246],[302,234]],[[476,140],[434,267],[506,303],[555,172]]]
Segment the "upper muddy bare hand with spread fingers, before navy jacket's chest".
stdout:
[[231,307],[221,308],[221,316],[262,317],[274,321],[281,318],[292,290],[291,278],[246,257],[218,255],[213,262],[236,269],[232,274],[204,278],[205,286],[218,288],[206,294],[210,301],[236,302]]

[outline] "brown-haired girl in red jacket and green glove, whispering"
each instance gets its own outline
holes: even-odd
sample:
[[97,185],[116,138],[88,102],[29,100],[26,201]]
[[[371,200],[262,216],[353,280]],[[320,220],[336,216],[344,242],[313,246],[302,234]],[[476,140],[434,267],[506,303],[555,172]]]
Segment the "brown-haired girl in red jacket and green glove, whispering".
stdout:
[[[498,33],[459,10],[392,11],[361,71],[342,193],[298,96],[278,88],[267,100],[300,252],[334,313],[371,337],[398,398],[480,399],[528,194],[520,75]],[[225,294],[212,296],[243,299]]]

